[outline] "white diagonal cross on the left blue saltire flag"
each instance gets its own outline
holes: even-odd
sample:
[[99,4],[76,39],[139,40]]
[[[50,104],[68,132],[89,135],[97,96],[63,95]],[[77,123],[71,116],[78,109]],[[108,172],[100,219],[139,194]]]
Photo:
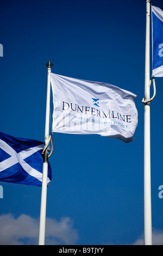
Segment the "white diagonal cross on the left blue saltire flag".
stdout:
[[[29,164],[26,163],[24,161],[24,159],[26,159],[30,155],[33,155],[35,152],[43,149],[44,144],[38,145],[33,148],[25,149],[19,153],[16,153],[16,151],[14,149],[12,149],[10,147],[10,145],[8,145],[6,142],[4,142],[4,141],[2,141],[2,139],[0,139],[0,148],[2,148],[6,153],[8,153],[11,156],[8,159],[6,159],[0,163],[0,172],[2,172],[3,170],[5,170],[11,166],[14,166],[14,164],[16,164],[16,163],[20,163],[22,168],[24,170],[26,170],[26,172],[29,175],[35,177],[36,179],[38,179],[42,182],[42,173],[38,172],[36,169],[29,166]],[[50,180],[47,177],[47,182],[49,182],[49,181]]]

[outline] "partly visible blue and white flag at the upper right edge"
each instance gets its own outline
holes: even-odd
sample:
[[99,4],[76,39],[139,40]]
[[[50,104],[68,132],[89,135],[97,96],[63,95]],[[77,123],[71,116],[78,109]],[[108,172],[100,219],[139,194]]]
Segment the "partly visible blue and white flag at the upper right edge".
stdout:
[[163,11],[152,6],[153,76],[163,76]]

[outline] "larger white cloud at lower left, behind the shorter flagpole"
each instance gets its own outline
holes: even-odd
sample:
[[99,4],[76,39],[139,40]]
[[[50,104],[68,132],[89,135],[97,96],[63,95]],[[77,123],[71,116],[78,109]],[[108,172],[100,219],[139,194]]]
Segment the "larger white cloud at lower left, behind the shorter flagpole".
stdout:
[[[15,218],[12,214],[0,215],[0,245],[37,245],[39,239],[39,220],[22,214]],[[46,245],[75,245],[77,230],[69,217],[56,221],[46,219]]]

